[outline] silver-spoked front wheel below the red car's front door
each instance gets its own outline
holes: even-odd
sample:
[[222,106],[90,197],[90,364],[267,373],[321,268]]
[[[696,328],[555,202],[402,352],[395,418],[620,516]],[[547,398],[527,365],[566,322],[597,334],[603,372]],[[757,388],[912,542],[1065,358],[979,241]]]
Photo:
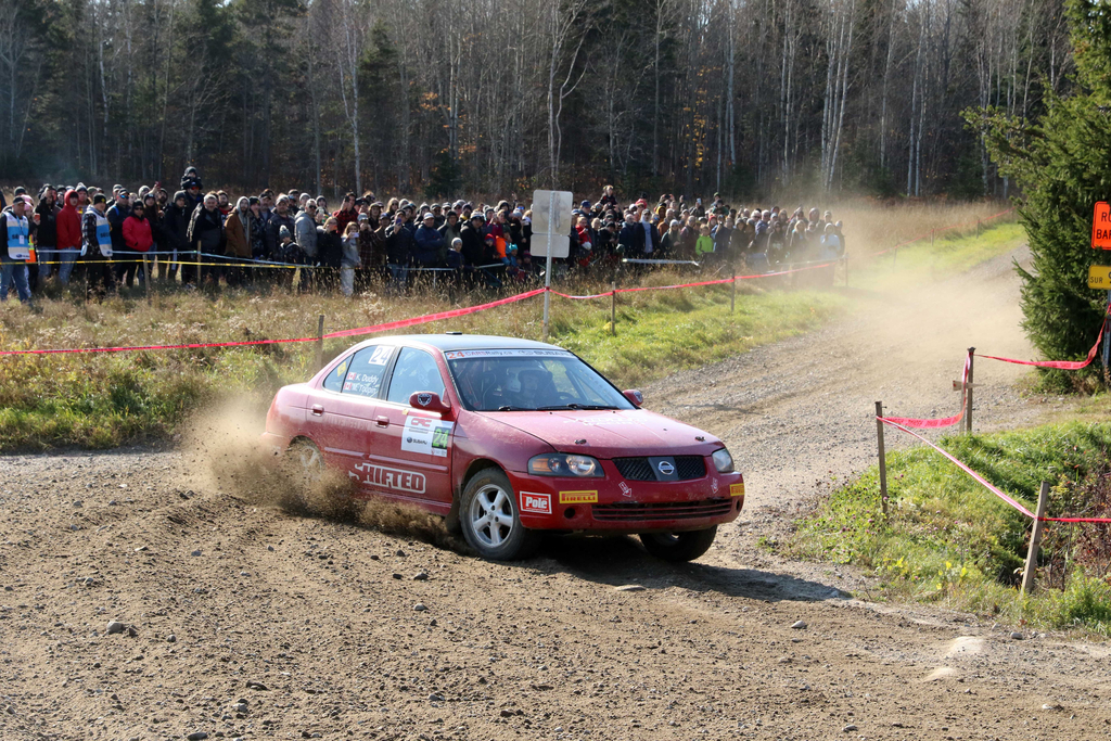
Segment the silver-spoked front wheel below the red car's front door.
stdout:
[[471,548],[492,561],[523,559],[540,545],[539,533],[521,524],[513,487],[499,469],[483,469],[467,482],[459,524]]

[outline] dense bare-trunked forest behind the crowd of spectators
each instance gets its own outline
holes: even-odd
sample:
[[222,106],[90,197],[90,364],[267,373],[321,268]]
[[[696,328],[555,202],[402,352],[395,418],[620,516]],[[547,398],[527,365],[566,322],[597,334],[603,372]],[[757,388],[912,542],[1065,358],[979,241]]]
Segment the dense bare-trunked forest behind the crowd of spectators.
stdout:
[[1062,0],[0,0],[0,179],[1007,198],[962,111],[1072,66]]

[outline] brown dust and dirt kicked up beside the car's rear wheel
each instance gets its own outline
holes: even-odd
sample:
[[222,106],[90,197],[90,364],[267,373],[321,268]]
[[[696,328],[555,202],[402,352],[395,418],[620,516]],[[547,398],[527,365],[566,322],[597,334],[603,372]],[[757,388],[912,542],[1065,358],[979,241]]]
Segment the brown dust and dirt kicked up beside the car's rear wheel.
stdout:
[[280,455],[260,443],[263,428],[258,407],[234,399],[220,400],[193,414],[182,432],[182,450],[193,458],[196,485],[294,517],[343,522],[469,552],[466,541],[449,532],[441,517],[413,505],[357,498],[356,488],[341,471],[307,474],[294,455]]

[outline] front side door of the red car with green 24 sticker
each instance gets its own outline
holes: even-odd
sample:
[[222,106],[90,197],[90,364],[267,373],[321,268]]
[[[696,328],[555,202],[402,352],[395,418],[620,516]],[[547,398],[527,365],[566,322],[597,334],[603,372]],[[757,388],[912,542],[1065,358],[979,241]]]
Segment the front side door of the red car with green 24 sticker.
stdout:
[[409,397],[416,391],[432,391],[443,398],[443,375],[431,352],[401,348],[378,417],[389,420],[380,444],[371,452],[371,462],[388,469],[386,493],[398,499],[419,500],[426,507],[447,514],[451,508],[451,435],[454,423],[437,412],[413,409]]

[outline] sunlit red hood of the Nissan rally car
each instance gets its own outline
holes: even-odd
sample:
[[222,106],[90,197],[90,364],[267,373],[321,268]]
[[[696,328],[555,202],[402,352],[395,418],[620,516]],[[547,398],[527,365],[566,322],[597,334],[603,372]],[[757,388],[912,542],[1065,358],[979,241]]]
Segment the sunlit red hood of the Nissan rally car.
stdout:
[[647,409],[484,412],[483,415],[528,432],[560,452],[595,458],[709,455],[721,447],[717,438],[698,428]]

